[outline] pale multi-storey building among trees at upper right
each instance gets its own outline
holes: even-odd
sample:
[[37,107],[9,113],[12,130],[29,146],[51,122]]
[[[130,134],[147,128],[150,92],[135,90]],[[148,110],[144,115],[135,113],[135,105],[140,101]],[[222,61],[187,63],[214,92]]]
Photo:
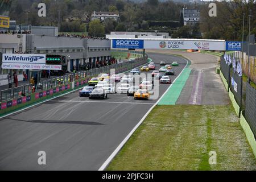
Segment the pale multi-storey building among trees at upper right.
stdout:
[[200,23],[200,11],[197,9],[185,9],[181,10],[183,14],[183,22],[185,25],[193,25],[195,23]]

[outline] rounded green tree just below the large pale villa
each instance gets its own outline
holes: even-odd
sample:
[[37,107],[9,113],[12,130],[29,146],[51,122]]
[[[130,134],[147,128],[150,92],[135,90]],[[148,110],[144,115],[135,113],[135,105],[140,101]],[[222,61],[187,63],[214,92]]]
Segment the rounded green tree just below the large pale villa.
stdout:
[[104,36],[105,27],[99,19],[94,19],[89,23],[89,35],[90,36]]

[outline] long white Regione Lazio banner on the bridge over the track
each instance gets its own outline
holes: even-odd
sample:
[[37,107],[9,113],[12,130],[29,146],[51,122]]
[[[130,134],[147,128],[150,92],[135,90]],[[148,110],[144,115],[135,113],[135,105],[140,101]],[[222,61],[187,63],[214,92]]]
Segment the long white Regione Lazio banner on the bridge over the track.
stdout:
[[225,41],[144,40],[145,49],[201,49],[225,51]]

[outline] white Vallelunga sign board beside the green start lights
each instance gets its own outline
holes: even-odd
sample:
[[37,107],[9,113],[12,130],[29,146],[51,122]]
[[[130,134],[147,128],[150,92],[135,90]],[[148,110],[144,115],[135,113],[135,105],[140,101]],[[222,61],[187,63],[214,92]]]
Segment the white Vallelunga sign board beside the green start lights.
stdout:
[[46,55],[3,53],[2,68],[61,70],[61,65],[46,65]]

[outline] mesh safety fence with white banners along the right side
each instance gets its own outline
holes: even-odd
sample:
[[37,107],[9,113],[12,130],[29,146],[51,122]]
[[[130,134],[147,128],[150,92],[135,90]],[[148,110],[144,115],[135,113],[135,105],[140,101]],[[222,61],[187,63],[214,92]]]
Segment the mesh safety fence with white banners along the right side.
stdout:
[[242,117],[244,110],[245,119],[256,136],[256,89],[249,82],[243,84],[239,54],[232,52],[221,57],[220,74],[224,85],[228,84],[229,97],[238,117]]

